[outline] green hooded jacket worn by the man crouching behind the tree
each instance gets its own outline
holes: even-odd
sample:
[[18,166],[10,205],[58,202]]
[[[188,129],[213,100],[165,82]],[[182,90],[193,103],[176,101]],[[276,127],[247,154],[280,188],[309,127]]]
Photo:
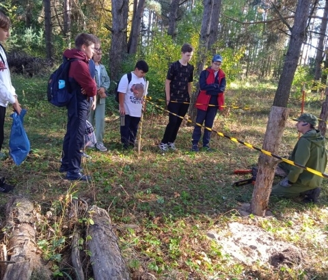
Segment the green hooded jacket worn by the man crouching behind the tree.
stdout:
[[[319,130],[312,129],[302,135],[295,145],[294,150],[292,150],[290,160],[320,171],[321,173],[325,172],[327,165],[325,138],[320,135]],[[287,177],[290,182],[297,182],[297,184],[313,188],[320,186],[323,181],[322,177],[296,166],[290,168]]]

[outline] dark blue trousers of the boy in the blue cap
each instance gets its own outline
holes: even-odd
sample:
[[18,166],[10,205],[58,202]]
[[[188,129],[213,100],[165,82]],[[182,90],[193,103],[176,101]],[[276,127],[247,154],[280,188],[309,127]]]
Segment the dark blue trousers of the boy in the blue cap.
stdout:
[[[196,123],[202,124],[205,121],[205,126],[208,128],[213,127],[215,115],[217,115],[217,107],[208,106],[207,111],[203,111],[197,109]],[[208,129],[204,129],[203,135],[203,146],[208,145],[210,143],[210,133],[211,131]],[[200,141],[200,137],[202,136],[202,127],[195,126],[193,129],[192,143],[193,145],[197,145],[198,141]]]

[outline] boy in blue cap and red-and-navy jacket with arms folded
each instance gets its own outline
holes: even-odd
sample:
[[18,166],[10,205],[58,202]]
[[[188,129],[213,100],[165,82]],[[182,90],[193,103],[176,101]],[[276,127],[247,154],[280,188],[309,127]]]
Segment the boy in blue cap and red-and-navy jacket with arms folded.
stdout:
[[[200,73],[200,94],[197,97],[195,107],[197,108],[196,124],[203,125],[206,128],[212,128],[217,109],[220,111],[224,104],[224,90],[226,89],[226,74],[221,69],[222,57],[215,55],[212,59],[212,65]],[[204,129],[203,149],[210,152],[212,149],[210,143],[211,130]],[[202,136],[202,128],[195,126],[193,129],[191,151],[199,152],[198,141]]]

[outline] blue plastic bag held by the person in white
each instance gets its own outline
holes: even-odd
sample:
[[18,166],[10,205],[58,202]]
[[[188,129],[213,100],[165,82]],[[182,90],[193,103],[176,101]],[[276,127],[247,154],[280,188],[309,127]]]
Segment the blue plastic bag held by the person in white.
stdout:
[[25,109],[22,109],[20,115],[16,112],[10,115],[12,117],[12,130],[10,131],[9,152],[16,165],[23,163],[29,154],[29,139],[23,126],[26,112]]

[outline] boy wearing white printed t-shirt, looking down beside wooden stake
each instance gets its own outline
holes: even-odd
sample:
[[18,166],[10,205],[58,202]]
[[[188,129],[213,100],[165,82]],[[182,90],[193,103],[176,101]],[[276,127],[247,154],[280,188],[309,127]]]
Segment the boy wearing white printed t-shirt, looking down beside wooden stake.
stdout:
[[120,115],[124,115],[124,124],[120,126],[121,142],[124,149],[135,145],[138,125],[141,118],[143,96],[146,94],[146,80],[148,64],[144,60],[137,61],[135,70],[131,72],[131,81],[124,74],[118,84],[118,100],[120,102]]

